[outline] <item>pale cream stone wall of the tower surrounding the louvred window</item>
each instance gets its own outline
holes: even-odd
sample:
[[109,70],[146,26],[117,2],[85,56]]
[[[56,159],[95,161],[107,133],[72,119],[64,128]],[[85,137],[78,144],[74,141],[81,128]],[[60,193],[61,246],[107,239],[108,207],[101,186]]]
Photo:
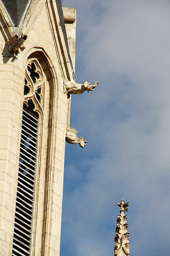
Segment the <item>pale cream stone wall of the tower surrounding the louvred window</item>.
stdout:
[[60,1],[28,2],[31,5],[22,27],[26,48],[18,59],[12,54],[8,57],[5,42],[21,29],[13,28],[0,2],[0,255],[12,255],[25,71],[29,60],[35,59],[44,82],[30,255],[56,256],[60,253],[65,130],[70,125],[70,98],[63,93],[63,82],[74,80],[76,11],[64,9],[66,45],[58,11],[61,6],[57,6]]

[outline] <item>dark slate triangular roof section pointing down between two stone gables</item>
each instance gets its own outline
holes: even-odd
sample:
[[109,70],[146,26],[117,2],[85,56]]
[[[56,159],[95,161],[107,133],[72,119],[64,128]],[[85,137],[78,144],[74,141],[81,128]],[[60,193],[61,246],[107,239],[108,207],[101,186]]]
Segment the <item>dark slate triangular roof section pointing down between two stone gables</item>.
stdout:
[[19,26],[19,23],[23,17],[26,7],[29,4],[29,0],[2,0],[5,8],[10,14],[11,20],[15,27]]

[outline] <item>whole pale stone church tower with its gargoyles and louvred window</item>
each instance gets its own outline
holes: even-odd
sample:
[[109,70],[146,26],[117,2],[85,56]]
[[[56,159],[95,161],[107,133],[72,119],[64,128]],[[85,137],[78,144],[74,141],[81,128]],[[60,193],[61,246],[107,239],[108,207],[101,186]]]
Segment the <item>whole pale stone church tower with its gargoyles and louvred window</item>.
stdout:
[[0,0],[1,256],[60,253],[70,94],[94,88],[74,90],[75,29],[61,0]]

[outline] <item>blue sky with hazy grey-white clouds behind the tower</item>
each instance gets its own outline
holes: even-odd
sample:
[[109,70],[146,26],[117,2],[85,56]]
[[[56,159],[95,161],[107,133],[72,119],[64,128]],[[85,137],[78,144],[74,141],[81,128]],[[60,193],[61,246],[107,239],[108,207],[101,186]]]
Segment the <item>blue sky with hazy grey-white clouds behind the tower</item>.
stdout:
[[117,201],[130,203],[131,256],[169,255],[170,2],[63,0],[77,10],[61,256],[114,255]]

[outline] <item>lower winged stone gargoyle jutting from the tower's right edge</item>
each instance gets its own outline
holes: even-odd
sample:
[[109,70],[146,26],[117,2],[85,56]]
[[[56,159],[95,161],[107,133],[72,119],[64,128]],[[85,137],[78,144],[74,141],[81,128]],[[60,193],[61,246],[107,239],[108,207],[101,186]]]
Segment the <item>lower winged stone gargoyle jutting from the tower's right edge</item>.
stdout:
[[84,148],[87,141],[83,137],[77,137],[77,133],[76,129],[66,126],[65,140],[70,144],[79,144],[81,148]]

